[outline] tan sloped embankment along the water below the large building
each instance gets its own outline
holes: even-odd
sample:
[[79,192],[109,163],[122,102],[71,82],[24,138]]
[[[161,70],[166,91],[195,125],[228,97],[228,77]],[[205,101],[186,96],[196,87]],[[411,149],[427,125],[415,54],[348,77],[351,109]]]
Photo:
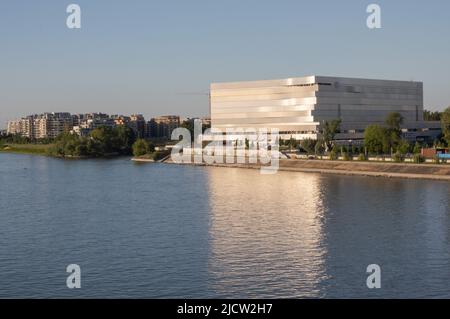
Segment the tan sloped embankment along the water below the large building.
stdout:
[[[170,159],[164,161],[173,163]],[[181,164],[183,165],[183,164]],[[260,169],[260,164],[186,164],[198,166],[234,167]],[[450,181],[450,165],[448,164],[412,164],[387,162],[357,162],[330,160],[280,160],[280,171],[359,175],[387,178],[411,178]]]

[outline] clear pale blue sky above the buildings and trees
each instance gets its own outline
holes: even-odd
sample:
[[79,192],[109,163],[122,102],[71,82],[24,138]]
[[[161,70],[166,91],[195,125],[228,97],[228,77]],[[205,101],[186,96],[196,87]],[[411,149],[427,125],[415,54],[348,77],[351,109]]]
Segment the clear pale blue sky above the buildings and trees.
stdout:
[[443,109],[449,16],[448,0],[2,0],[0,127],[44,111],[202,116],[211,82],[312,74],[423,81]]

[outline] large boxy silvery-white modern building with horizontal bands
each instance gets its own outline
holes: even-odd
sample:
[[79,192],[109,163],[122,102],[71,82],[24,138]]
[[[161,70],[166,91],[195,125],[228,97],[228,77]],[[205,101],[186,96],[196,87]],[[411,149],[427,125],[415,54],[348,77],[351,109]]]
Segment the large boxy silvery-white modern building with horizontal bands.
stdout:
[[437,135],[439,123],[423,121],[423,83],[329,76],[211,84],[211,125],[276,128],[284,138],[317,138],[325,121],[341,120],[337,139],[362,139],[387,115],[404,118],[409,138]]

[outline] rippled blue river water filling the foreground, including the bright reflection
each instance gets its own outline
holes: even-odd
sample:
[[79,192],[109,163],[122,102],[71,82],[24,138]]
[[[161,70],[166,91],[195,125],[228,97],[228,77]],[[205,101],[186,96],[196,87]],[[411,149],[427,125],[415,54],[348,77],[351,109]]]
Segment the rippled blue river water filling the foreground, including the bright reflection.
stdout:
[[0,297],[450,298],[449,201],[439,181],[3,153]]

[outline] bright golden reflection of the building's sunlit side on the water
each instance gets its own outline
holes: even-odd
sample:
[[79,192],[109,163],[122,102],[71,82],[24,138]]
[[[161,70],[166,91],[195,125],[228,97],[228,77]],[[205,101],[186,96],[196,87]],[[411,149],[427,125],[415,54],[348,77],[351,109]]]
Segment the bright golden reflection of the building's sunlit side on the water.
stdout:
[[208,176],[211,289],[221,297],[320,296],[320,175],[213,168]]

